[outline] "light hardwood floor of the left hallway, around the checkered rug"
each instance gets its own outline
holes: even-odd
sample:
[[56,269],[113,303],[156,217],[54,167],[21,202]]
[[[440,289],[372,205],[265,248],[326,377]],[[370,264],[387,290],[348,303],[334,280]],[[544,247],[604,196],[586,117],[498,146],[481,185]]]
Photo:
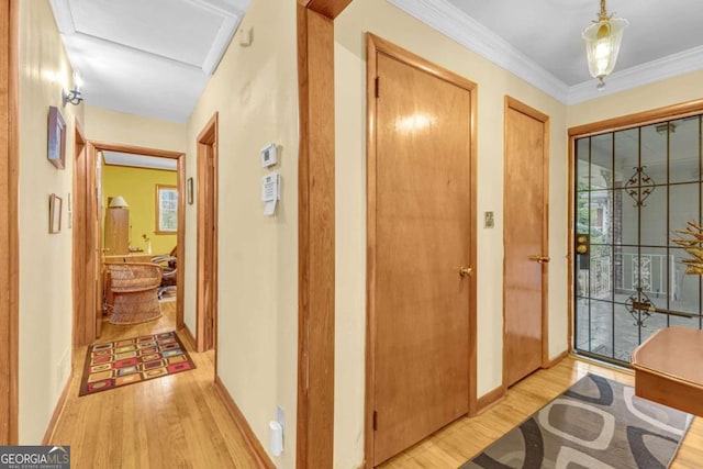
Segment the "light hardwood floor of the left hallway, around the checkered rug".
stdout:
[[[176,303],[134,326],[104,323],[98,340],[172,331]],[[78,398],[86,347],[74,350],[74,375],[48,444],[69,445],[75,468],[255,468],[245,440],[213,384],[214,355],[194,353],[194,370]]]

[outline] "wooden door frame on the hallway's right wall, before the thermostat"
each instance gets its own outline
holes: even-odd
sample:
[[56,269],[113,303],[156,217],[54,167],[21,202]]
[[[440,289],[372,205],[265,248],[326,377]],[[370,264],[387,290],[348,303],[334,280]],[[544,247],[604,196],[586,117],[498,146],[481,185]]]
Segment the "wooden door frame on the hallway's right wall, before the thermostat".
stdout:
[[[196,271],[196,346],[198,351],[205,351],[211,348],[215,348],[215,373],[217,369],[217,134],[219,134],[219,113],[208,121],[197,138],[197,161],[198,161],[198,241],[197,241],[197,271]],[[213,185],[209,188],[212,191],[213,204],[207,203],[210,200],[210,194],[204,193],[204,185],[202,183],[207,171],[207,152],[212,152],[212,159],[214,166]],[[208,235],[205,232],[205,225],[209,224],[210,217],[212,217],[212,225],[214,227],[212,232],[213,246],[212,256],[205,258],[205,245],[204,238]],[[211,301],[212,304],[204,304],[205,302],[205,272],[210,270],[210,278],[212,279]],[[212,328],[205,327],[205,324],[212,323]]]

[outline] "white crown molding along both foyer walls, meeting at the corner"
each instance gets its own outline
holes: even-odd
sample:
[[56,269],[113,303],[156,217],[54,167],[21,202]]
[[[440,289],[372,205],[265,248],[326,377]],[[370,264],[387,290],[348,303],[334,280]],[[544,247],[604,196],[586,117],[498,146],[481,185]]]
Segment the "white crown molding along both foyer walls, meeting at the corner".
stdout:
[[602,91],[595,89],[595,80],[569,87],[446,0],[387,1],[567,105],[703,70],[703,46],[699,46],[611,74]]

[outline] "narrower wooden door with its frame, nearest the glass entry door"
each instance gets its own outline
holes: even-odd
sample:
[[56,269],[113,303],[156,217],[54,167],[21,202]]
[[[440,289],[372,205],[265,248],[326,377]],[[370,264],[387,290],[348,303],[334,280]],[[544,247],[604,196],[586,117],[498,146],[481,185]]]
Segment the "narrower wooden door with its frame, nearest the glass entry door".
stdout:
[[548,116],[505,100],[503,383],[547,360]]

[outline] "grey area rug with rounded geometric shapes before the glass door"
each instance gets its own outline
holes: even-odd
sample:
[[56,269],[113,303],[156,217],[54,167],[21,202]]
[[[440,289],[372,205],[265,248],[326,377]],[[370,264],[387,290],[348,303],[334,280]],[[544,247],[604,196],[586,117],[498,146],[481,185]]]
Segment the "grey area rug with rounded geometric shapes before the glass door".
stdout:
[[588,375],[467,468],[668,468],[693,416]]

